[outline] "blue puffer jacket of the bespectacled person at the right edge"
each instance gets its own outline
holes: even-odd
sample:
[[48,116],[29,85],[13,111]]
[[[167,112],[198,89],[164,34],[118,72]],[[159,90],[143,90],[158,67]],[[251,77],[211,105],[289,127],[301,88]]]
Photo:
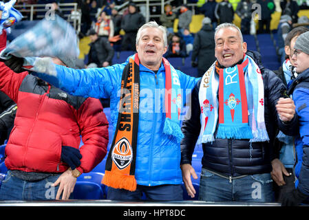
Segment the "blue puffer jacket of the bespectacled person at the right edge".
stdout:
[[290,89],[294,90],[295,111],[299,117],[299,136],[295,139],[295,186],[309,195],[309,69],[297,76]]

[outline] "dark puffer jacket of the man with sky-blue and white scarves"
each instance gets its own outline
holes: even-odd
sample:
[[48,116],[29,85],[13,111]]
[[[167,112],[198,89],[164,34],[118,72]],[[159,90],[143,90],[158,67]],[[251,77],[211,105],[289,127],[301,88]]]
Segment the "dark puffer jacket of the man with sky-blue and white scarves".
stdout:
[[[277,126],[286,133],[294,135],[297,131],[297,115],[287,124],[279,120],[275,105],[280,98],[281,89],[285,89],[281,80],[269,69],[265,69],[260,61],[257,52],[247,52],[251,56],[262,72],[264,80],[264,108],[265,124],[270,138],[269,142],[253,142],[249,140],[235,139],[215,139],[215,141],[202,144],[204,155],[202,157],[202,167],[222,173],[227,177],[239,175],[253,175],[257,173],[270,173],[272,170],[271,161],[275,159],[273,155],[273,141]],[[191,118],[182,124],[184,138],[181,146],[181,164],[191,164],[192,153],[195,143],[200,134],[200,103],[198,92],[201,80],[195,85],[192,91]],[[217,123],[218,124],[218,123]],[[217,130],[215,131],[215,136]]]

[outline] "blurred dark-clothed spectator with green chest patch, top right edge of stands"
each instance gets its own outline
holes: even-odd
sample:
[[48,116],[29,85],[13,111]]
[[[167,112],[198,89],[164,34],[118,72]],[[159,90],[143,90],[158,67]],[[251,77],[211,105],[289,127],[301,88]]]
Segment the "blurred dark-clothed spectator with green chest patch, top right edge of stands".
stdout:
[[[271,14],[275,12],[275,3],[273,0],[257,0],[261,5],[261,18],[259,18],[258,34],[270,33]],[[264,25],[266,26],[264,29]]]

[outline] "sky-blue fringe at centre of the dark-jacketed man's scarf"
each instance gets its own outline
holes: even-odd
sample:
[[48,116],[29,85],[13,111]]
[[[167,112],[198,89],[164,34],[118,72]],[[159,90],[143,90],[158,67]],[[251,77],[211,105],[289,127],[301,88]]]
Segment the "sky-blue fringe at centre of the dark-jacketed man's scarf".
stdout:
[[219,124],[216,138],[251,139],[253,135],[251,127],[248,125],[224,126],[223,124]]

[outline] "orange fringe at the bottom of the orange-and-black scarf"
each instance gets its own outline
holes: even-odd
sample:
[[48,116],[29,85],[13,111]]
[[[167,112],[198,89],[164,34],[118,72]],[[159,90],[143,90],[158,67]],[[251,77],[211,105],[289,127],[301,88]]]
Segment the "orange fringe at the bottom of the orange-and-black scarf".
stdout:
[[123,175],[121,173],[111,173],[109,170],[105,170],[105,175],[102,180],[102,184],[112,188],[122,188],[129,191],[136,190],[136,179],[133,175]]

